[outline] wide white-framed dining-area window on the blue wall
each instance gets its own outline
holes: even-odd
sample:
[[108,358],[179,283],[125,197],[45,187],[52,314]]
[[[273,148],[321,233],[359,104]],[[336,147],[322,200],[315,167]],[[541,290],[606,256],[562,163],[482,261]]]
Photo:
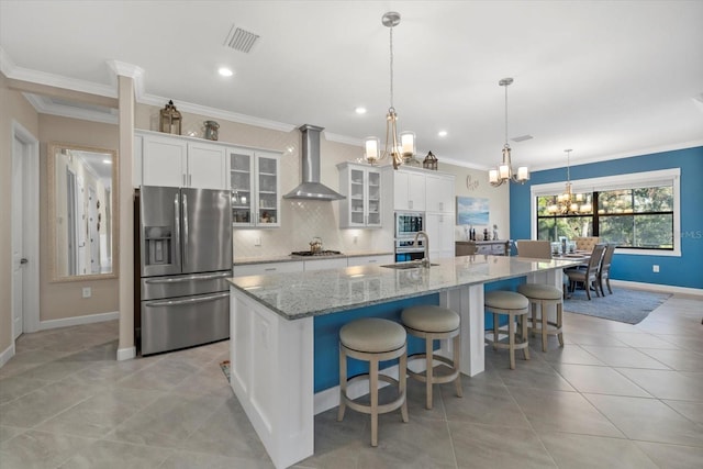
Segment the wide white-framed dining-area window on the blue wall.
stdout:
[[572,182],[577,203],[569,214],[556,211],[563,183],[532,188],[533,238],[600,236],[618,252],[680,255],[679,169]]

